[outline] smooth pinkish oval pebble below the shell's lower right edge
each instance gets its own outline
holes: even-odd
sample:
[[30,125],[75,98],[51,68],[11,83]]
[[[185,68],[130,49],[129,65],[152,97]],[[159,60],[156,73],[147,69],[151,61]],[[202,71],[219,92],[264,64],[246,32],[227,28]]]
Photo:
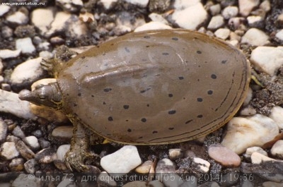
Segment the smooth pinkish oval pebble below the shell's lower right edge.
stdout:
[[241,158],[228,147],[211,145],[208,154],[224,167],[238,167],[241,164]]

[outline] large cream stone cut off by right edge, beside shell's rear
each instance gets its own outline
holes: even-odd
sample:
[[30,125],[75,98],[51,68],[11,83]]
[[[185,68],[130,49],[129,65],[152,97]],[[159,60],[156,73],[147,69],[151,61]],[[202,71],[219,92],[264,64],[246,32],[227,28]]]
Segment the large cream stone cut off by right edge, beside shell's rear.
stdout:
[[270,76],[275,76],[283,65],[283,47],[257,47],[250,54],[250,61]]

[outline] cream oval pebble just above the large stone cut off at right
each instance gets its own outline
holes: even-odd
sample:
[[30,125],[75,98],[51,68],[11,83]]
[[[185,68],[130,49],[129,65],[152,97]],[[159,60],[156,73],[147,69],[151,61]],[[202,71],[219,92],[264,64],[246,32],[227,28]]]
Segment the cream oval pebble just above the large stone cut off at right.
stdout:
[[248,43],[255,46],[261,46],[268,44],[270,41],[269,37],[257,28],[250,28],[245,35],[243,35],[241,43]]

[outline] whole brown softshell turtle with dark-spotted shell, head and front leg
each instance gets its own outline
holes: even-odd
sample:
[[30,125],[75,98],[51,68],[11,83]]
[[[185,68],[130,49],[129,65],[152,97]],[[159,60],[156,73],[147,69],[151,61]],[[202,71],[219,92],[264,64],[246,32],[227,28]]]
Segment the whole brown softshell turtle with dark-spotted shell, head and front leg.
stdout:
[[57,83],[19,97],[69,117],[74,136],[67,164],[86,171],[88,129],[136,145],[199,138],[236,114],[249,82],[250,65],[236,47],[200,32],[153,30],[79,54]]

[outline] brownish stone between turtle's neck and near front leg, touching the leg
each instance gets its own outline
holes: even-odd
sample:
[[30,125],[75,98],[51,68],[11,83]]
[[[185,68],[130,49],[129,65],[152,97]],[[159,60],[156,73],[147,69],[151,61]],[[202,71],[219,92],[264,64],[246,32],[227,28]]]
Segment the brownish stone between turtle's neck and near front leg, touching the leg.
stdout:
[[64,143],[69,143],[73,136],[73,126],[58,126],[51,133],[52,138]]

